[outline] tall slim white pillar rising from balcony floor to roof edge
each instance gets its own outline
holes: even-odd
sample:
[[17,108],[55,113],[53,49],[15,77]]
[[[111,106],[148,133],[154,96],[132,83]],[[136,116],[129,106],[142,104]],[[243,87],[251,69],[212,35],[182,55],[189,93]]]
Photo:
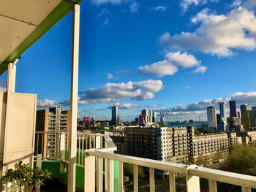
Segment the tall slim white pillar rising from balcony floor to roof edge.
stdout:
[[75,169],[77,151],[77,117],[78,117],[78,55],[79,55],[79,23],[80,6],[73,7],[73,34],[72,34],[72,72],[70,91],[70,129],[69,129],[69,172],[68,192],[75,192]]

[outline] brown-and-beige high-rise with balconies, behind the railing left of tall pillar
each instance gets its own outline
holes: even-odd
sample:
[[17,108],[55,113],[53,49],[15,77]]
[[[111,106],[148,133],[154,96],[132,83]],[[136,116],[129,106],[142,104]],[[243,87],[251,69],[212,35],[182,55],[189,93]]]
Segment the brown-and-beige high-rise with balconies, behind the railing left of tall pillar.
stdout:
[[[69,132],[70,111],[63,111],[61,107],[50,107],[49,110],[38,110],[36,131],[45,131],[35,141],[35,151],[42,153],[44,157],[55,157],[59,155],[58,132]],[[43,136],[43,137],[42,137]],[[42,142],[43,141],[43,142]],[[42,146],[42,143],[44,146]]]

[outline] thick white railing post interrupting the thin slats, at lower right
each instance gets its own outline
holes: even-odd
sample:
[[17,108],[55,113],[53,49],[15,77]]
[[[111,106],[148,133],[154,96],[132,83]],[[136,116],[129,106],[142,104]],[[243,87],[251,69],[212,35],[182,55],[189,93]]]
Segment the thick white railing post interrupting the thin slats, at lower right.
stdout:
[[186,183],[187,183],[187,192],[200,192],[200,182],[199,177],[190,174],[190,168],[197,168],[197,165],[187,166],[186,172]]

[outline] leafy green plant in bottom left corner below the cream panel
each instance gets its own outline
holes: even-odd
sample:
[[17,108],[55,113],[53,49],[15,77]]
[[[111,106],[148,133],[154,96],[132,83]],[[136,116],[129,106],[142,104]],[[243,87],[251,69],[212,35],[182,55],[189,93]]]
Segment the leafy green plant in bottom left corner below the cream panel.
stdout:
[[31,186],[31,190],[36,185],[44,185],[45,179],[50,179],[50,172],[42,171],[38,167],[32,169],[29,164],[22,164],[22,161],[15,164],[15,170],[8,169],[5,174],[6,182],[16,181],[19,185],[20,191],[23,187]]

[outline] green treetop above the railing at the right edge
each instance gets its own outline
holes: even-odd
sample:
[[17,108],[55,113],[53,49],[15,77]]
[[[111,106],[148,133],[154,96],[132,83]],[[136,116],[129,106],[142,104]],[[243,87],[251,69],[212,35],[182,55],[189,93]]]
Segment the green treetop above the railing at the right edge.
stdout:
[[256,148],[250,145],[231,147],[230,154],[222,169],[228,172],[256,176]]

